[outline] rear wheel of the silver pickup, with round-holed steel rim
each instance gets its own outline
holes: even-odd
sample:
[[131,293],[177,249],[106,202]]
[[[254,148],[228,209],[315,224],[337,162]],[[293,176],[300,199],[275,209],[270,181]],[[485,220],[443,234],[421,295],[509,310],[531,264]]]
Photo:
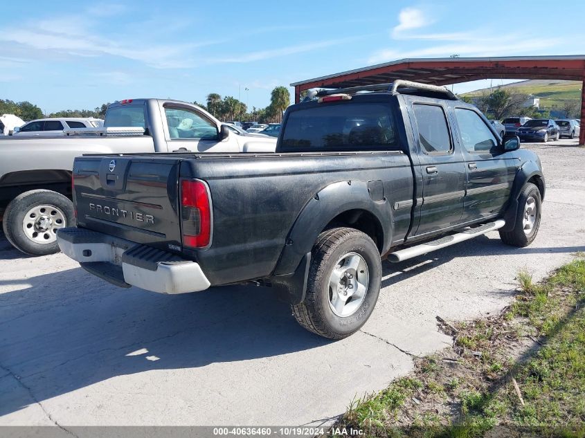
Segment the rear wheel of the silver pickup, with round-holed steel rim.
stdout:
[[56,231],[75,223],[73,203],[51,190],[30,190],[12,199],[4,212],[6,239],[29,255],[59,252]]

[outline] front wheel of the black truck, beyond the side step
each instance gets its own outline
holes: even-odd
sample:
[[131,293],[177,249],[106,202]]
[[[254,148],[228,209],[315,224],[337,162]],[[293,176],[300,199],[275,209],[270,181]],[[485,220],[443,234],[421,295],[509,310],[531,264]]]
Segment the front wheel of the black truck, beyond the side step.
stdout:
[[[530,217],[532,216],[527,213],[530,204],[532,204],[531,211],[534,212],[534,221],[528,228],[528,222],[530,222]],[[500,239],[507,245],[519,246],[520,248],[532,244],[540,228],[541,208],[542,201],[539,189],[532,183],[526,183],[518,198],[518,211],[516,212],[514,228],[511,231],[500,230]]]

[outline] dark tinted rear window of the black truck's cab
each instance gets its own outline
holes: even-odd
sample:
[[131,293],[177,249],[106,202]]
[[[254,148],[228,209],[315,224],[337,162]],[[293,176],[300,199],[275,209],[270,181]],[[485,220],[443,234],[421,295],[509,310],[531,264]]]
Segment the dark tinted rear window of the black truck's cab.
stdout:
[[399,149],[388,105],[319,104],[293,111],[287,118],[282,147],[288,151]]

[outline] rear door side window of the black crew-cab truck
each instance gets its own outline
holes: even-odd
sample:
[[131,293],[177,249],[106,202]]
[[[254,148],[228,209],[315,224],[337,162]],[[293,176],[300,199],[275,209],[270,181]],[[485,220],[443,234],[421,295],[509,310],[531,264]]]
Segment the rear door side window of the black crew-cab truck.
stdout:
[[448,154],[451,151],[451,136],[442,107],[414,104],[413,110],[421,149],[427,154]]

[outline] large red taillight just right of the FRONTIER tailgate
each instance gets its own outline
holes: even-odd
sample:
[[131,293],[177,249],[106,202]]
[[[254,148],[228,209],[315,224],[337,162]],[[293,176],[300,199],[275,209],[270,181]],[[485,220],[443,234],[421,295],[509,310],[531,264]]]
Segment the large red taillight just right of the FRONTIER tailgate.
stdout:
[[211,203],[206,183],[181,181],[181,223],[183,246],[204,248],[211,240]]

